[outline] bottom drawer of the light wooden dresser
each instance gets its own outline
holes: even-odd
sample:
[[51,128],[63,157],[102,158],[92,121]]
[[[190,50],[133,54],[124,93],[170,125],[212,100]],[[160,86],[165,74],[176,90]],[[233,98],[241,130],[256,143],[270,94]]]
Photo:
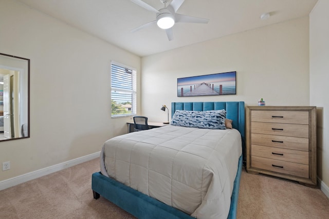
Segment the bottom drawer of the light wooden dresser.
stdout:
[[308,165],[251,156],[251,167],[308,178]]

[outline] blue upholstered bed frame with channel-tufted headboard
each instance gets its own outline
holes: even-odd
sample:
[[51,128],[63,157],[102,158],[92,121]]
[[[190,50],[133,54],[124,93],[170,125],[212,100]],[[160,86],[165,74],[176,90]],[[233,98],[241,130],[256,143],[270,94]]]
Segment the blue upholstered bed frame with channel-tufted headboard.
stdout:
[[[245,104],[244,102],[178,102],[171,104],[172,115],[176,110],[220,110],[227,111],[227,118],[233,120],[233,128],[239,130],[242,136],[242,147],[245,149]],[[244,153],[243,153],[244,154]],[[243,155],[239,158],[238,169],[234,180],[231,196],[231,206],[227,218],[236,218],[237,199],[239,197],[240,177],[242,171]],[[94,198],[102,195],[108,201],[116,204],[123,210],[137,218],[143,219],[193,219],[194,217],[157,201],[135,189],[125,186],[113,178],[106,177],[100,172],[92,175],[92,189]]]

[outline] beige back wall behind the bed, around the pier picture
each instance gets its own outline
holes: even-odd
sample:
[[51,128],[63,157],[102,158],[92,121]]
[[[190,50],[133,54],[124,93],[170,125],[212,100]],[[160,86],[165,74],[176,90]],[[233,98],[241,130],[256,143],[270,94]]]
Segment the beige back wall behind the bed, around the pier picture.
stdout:
[[[309,105],[308,17],[142,58],[142,114],[166,121],[162,104],[245,101]],[[177,97],[177,78],[236,71],[236,95]]]

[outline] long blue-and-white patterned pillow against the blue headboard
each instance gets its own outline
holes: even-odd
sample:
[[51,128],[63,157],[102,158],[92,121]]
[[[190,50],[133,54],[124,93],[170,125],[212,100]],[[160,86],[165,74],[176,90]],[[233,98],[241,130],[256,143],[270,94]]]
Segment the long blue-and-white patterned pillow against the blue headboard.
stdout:
[[225,118],[225,110],[177,110],[172,117],[171,125],[202,129],[226,129]]

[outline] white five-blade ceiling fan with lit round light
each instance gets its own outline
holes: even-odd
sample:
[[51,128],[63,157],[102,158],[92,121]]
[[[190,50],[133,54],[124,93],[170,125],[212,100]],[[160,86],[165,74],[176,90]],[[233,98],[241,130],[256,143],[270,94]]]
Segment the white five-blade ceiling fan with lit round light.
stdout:
[[192,16],[176,13],[178,8],[184,3],[185,0],[173,0],[168,6],[166,6],[167,5],[166,0],[160,0],[160,2],[165,5],[165,7],[159,10],[153,8],[152,6],[148,5],[147,3],[141,0],[131,0],[131,1],[144,9],[156,13],[155,21],[141,25],[133,29],[131,32],[136,32],[140,29],[157,24],[159,28],[166,30],[169,41],[172,41],[173,40],[172,27],[174,26],[175,23],[207,24],[209,22],[209,19],[206,18],[192,17]]

